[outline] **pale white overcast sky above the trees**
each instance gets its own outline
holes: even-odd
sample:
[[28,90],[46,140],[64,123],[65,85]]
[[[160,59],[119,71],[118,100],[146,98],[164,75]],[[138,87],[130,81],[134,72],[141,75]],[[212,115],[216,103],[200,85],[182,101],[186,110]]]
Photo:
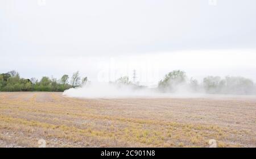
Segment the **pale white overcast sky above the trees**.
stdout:
[[256,1],[0,0],[0,55],[0,72],[26,78],[113,81],[136,69],[153,84],[183,69],[256,81]]

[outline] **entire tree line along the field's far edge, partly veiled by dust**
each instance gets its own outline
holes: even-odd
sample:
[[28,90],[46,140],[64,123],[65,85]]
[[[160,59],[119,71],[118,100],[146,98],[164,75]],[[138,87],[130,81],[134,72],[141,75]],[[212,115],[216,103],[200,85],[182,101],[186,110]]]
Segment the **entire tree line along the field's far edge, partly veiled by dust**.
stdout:
[[[21,78],[15,70],[0,73],[0,91],[64,91],[72,87],[83,86],[86,82],[88,82],[88,78],[81,78],[78,71],[73,73],[71,78],[64,74],[59,80],[46,76],[40,80]],[[137,86],[130,82],[127,76],[118,78],[115,83]],[[208,76],[203,79],[203,82],[198,82],[193,78],[189,79],[185,72],[174,70],[159,81],[158,90],[162,92],[184,90],[209,94],[255,94],[256,86],[253,81],[244,77]]]

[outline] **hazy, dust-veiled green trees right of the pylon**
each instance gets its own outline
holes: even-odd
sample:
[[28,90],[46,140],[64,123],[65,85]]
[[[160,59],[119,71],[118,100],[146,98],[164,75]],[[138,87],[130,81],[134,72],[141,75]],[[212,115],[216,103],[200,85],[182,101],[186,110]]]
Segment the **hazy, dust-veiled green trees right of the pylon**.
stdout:
[[218,76],[208,76],[199,83],[197,80],[189,78],[181,70],[174,70],[159,81],[158,88],[164,92],[175,92],[179,89],[186,89],[191,92],[209,94],[255,94],[256,86],[253,81],[244,77],[221,78]]

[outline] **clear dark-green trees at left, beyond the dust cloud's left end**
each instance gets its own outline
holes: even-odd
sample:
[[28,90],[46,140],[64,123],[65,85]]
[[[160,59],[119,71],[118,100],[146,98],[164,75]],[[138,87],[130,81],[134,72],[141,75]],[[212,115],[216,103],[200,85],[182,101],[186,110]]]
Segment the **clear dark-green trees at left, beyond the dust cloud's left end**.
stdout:
[[12,70],[0,73],[0,91],[64,91],[85,85],[87,81],[88,78],[81,78],[78,71],[73,73],[70,79],[67,74],[64,74],[59,80],[46,76],[38,80],[21,78],[18,72]]

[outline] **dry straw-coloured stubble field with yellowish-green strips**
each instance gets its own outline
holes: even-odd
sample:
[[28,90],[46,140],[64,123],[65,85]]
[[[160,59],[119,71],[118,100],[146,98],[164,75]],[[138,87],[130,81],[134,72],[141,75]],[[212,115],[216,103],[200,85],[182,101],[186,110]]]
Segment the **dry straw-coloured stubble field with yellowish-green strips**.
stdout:
[[255,98],[0,93],[0,147],[256,147]]

